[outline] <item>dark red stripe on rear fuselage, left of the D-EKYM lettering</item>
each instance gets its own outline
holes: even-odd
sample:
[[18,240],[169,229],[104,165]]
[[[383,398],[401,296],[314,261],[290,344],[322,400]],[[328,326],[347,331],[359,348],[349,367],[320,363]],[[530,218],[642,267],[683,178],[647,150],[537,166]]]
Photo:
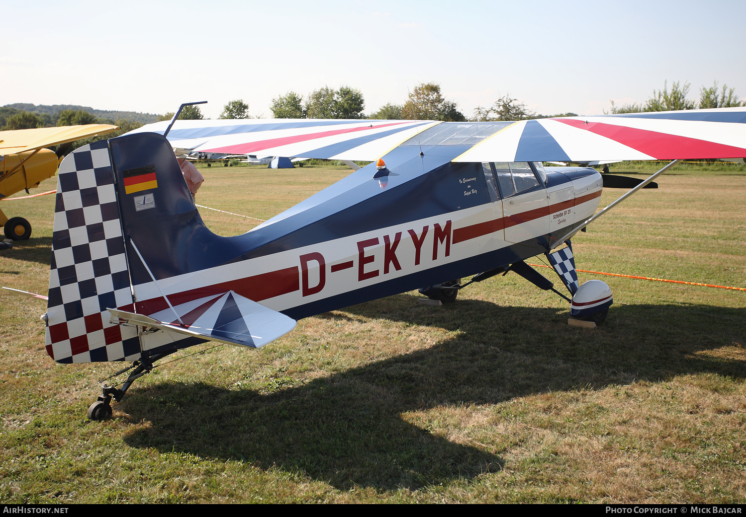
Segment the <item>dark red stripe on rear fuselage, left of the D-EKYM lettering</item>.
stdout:
[[[169,301],[172,305],[181,305],[182,303],[191,302],[192,299],[233,291],[245,298],[254,300],[254,302],[260,302],[263,299],[280,296],[280,294],[298,291],[298,289],[300,289],[298,266],[293,266],[277,271],[270,271],[269,273],[262,273],[261,275],[247,276],[242,279],[207,285],[204,288],[169,294]],[[155,314],[168,307],[169,304],[162,296],[137,302],[137,312],[140,314]]]

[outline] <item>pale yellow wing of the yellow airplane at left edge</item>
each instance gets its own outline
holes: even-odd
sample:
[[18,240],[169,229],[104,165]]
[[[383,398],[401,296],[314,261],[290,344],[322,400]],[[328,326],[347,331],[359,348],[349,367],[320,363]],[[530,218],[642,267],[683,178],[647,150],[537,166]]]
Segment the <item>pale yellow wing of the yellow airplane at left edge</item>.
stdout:
[[0,131],[0,155],[23,153],[90,136],[105,135],[118,129],[119,126],[111,124],[85,124],[83,126],[38,127],[30,130]]

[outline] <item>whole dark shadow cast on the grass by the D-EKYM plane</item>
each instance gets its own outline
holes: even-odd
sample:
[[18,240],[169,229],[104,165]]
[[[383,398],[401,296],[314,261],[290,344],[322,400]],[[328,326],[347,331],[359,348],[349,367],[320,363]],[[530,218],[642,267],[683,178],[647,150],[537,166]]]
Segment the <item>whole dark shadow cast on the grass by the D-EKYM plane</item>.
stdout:
[[744,309],[613,309],[604,327],[588,330],[568,327],[567,311],[557,308],[501,307],[468,299],[429,308],[415,305],[410,295],[390,296],[345,312],[436,326],[457,331],[457,337],[269,395],[207,384],[136,388],[122,409],[135,421],[153,425],[126,441],[163,452],[245,460],[263,469],[277,466],[338,489],[417,489],[494,472],[503,460],[496,455],[501,451],[492,454],[411,425],[402,412],[497,404],[548,390],[686,373],[745,377],[743,361],[697,353],[742,340]]

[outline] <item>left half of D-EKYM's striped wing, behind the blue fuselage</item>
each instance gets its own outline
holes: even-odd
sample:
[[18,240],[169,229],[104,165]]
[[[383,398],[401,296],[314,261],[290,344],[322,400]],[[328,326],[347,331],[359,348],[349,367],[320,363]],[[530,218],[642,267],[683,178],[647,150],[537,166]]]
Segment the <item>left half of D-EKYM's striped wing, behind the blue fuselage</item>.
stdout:
[[[375,161],[437,121],[251,119],[180,120],[169,132],[174,147],[194,152],[260,154]],[[131,133],[160,133],[168,122],[147,124]]]

